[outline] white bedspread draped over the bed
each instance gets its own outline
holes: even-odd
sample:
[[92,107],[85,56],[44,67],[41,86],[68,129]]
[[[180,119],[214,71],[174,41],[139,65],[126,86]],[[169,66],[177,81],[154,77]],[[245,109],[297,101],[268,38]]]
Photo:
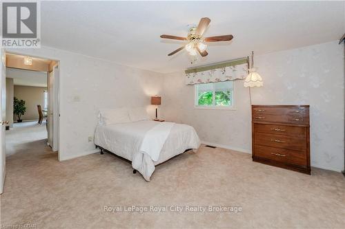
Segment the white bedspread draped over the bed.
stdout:
[[186,149],[198,149],[200,146],[199,137],[193,127],[173,124],[158,159],[152,160],[150,155],[140,152],[140,148],[146,133],[159,124],[161,122],[139,121],[99,125],[95,132],[95,144],[130,160],[132,167],[150,181],[155,165],[184,153]]

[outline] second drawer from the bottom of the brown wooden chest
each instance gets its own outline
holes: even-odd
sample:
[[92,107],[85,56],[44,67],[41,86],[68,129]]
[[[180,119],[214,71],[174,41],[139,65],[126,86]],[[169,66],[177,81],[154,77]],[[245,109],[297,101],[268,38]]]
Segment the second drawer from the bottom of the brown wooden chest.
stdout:
[[293,149],[297,151],[306,150],[306,136],[279,135],[272,133],[255,133],[254,144],[262,146]]

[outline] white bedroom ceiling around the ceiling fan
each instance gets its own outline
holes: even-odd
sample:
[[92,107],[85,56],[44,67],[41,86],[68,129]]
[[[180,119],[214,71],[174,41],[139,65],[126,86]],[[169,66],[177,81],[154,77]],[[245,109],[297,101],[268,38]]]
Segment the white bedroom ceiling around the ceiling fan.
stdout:
[[233,34],[208,45],[205,65],[335,41],[345,32],[344,1],[42,1],[42,45],[155,72],[192,67],[183,44],[188,24],[211,19],[206,36]]

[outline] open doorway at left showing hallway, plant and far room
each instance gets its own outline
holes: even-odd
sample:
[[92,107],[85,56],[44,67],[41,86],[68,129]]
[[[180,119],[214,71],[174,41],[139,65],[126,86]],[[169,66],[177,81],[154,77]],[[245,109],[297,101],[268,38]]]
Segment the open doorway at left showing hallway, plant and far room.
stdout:
[[1,78],[5,75],[6,102],[1,105],[6,103],[6,157],[40,157],[41,152],[59,160],[59,61],[5,55]]

